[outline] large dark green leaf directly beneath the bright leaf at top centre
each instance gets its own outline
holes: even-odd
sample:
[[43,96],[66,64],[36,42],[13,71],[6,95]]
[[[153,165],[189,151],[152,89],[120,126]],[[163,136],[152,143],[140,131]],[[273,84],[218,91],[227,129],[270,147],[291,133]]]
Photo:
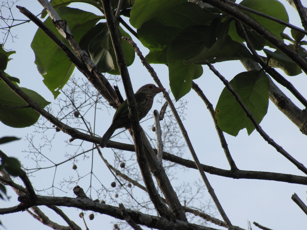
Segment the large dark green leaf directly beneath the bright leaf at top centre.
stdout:
[[215,17],[219,15],[209,13],[192,2],[184,2],[159,12],[137,30],[142,44],[150,49],[146,59],[150,63],[166,64],[169,44],[182,29],[206,25]]

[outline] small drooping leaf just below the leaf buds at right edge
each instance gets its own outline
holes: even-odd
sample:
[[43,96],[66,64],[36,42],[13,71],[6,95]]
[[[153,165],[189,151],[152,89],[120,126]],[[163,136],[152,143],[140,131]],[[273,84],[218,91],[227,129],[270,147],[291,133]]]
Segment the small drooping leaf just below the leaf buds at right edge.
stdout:
[[263,49],[263,52],[265,52],[268,58],[270,58],[269,65],[271,67],[282,69],[286,75],[296,76],[302,72],[301,68],[282,51],[276,50],[272,52],[268,49]]

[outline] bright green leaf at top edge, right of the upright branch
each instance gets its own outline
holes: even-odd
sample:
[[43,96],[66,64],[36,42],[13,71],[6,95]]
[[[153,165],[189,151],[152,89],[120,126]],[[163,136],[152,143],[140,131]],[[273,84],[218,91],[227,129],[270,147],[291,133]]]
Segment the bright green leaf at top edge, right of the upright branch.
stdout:
[[139,29],[145,21],[150,20],[172,6],[176,6],[187,0],[136,0],[130,11],[130,24]]

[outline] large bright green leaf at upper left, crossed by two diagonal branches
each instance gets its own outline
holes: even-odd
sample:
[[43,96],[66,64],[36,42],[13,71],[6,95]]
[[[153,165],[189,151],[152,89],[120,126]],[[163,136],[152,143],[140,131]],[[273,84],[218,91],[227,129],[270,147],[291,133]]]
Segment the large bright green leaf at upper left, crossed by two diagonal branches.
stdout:
[[[101,18],[93,13],[69,7],[61,7],[57,9],[57,12],[62,19],[67,21],[69,29],[77,42]],[[47,18],[45,25],[67,43],[60,36],[50,18]],[[35,54],[37,69],[44,77],[43,82],[56,98],[60,94],[59,90],[63,88],[72,75],[75,66],[41,29],[37,30],[31,43],[31,48]]]

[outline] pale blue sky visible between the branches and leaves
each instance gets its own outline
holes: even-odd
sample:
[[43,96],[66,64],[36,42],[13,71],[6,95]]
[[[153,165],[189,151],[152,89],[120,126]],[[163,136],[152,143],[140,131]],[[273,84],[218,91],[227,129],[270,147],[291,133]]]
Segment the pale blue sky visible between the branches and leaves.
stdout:
[[[290,23],[301,27],[298,15],[292,6],[290,6],[284,0],[281,2],[286,6],[290,17]],[[31,3],[29,3],[29,1],[20,0],[17,2],[17,5],[26,7],[34,14],[40,13],[42,9],[41,5],[36,1],[31,1]],[[12,8],[12,12],[15,18],[24,18],[23,15],[15,9],[15,7]],[[99,12],[96,11],[95,13],[98,14]],[[43,84],[42,76],[38,73],[36,65],[34,64],[35,57],[30,48],[30,43],[36,30],[37,27],[33,23],[27,23],[12,29],[12,34],[17,35],[17,38],[14,38],[13,40],[12,38],[9,38],[6,42],[6,48],[15,50],[16,54],[10,56],[13,58],[13,60],[9,62],[6,72],[11,76],[18,77],[21,80],[20,86],[36,90],[46,100],[54,102],[52,94]],[[289,34],[289,30],[286,30],[286,33]],[[139,48],[145,56],[148,50],[142,47],[139,41],[136,39],[134,40],[137,42]],[[236,74],[245,71],[239,61],[216,63],[214,64],[214,67],[228,80],[231,80]],[[167,67],[163,65],[153,65],[153,68],[157,72],[163,86],[169,90]],[[142,66],[142,63],[140,63],[137,57],[135,58],[134,64],[128,67],[128,70],[130,72],[134,91],[146,83],[154,83],[148,71]],[[77,70],[74,71],[74,74],[76,78],[83,77]],[[285,76],[283,73],[282,75]],[[303,96],[307,97],[305,90],[307,79],[304,74],[294,77],[285,77],[292,82],[292,84],[299,92],[301,92]],[[220,80],[212,72],[210,72],[206,66],[204,66],[204,74],[199,79],[196,79],[195,82],[200,86],[204,94],[215,107],[219,95],[224,88],[223,83],[220,82]],[[124,95],[122,84],[119,83],[118,86],[122,92],[122,95]],[[294,103],[303,109],[303,106],[297,102],[297,100],[293,98],[293,96],[284,87],[280,87],[287,94],[287,96],[293,100]],[[172,95],[171,97],[173,98]],[[187,129],[188,135],[192,140],[192,144],[200,162],[214,167],[229,169],[229,165],[223,150],[220,147],[220,142],[218,136],[216,135],[212,118],[208,113],[206,106],[201,99],[197,97],[197,94],[194,91],[191,91],[183,99],[188,101],[185,110],[186,116],[183,122],[185,128]],[[163,99],[162,103],[164,103]],[[159,110],[161,105],[161,102],[155,102],[152,110]],[[178,102],[175,105],[178,105]],[[56,111],[58,108],[54,107],[54,109]],[[99,132],[101,135],[103,135],[109,124],[111,124],[114,111],[102,108],[100,113],[102,118],[97,122],[97,127],[99,127]],[[148,121],[147,123],[144,123],[145,125],[142,125],[142,127],[145,129],[145,131],[150,133],[151,131],[149,130],[148,126],[150,126],[152,123],[153,120]],[[305,150],[306,136],[301,134],[298,128],[291,123],[291,121],[289,121],[288,118],[282,114],[272,102],[269,102],[268,112],[260,125],[264,131],[271,138],[273,138],[275,142],[280,144],[286,151],[288,151],[290,155],[292,155],[299,162],[307,165]],[[23,150],[28,149],[28,142],[25,140],[25,136],[33,134],[33,130],[33,127],[21,128],[17,130],[15,128],[10,128],[0,124],[0,136],[21,137],[21,140],[18,142],[2,145],[1,150],[9,156],[17,157],[25,166],[33,166],[33,160],[31,161],[31,159],[27,157],[27,154],[23,152]],[[53,135],[52,132],[49,132],[48,135]],[[42,136],[43,134],[37,135],[35,140],[40,143],[39,139]],[[237,167],[241,170],[270,171],[303,175],[303,173],[301,173],[293,164],[280,155],[273,147],[268,145],[256,131],[248,136],[246,130],[244,129],[241,130],[239,135],[236,137],[227,134],[225,134],[225,137],[231,155],[235,160]],[[53,148],[50,150],[49,148],[45,148],[44,153],[55,162],[60,162],[61,159],[66,159],[64,157],[65,154],[69,154],[70,151],[74,151],[74,147],[66,147],[64,141],[68,140],[69,136],[65,135],[64,133],[56,133],[54,138]],[[126,140],[120,141],[125,142]],[[114,154],[111,149],[103,149],[103,155],[105,155],[109,162],[112,163]],[[183,157],[186,159],[192,159],[187,149]],[[109,171],[107,171],[107,168],[104,165],[101,167],[103,162],[97,156],[93,156],[93,159],[94,169],[96,170],[95,175],[99,176],[100,181],[106,187],[110,187],[109,185],[114,178],[112,178],[112,175],[109,173]],[[85,174],[87,171],[89,171],[89,167],[91,167],[91,160],[82,158],[78,160],[77,166],[78,170],[80,170],[78,173]],[[30,177],[30,180],[37,189],[48,187],[50,186],[50,179],[52,179],[54,175],[55,179],[58,181],[60,181],[62,178],[69,177],[70,175],[76,177],[77,172],[73,171],[71,167],[72,162],[69,162],[68,164],[58,167],[56,172],[53,168],[42,171],[43,173],[41,174],[33,174],[33,176]],[[233,225],[247,229],[247,222],[255,221],[274,230],[305,229],[306,215],[291,200],[292,194],[296,193],[306,203],[305,186],[274,181],[223,178],[216,175],[210,175],[208,173],[206,173],[206,175],[217,197],[219,198],[225,213]],[[181,168],[177,169],[175,176],[177,179],[172,181],[173,186],[179,186],[181,182],[188,182],[191,180],[191,178],[195,178],[196,181],[200,178],[197,171],[193,169],[184,171]],[[80,181],[81,187],[86,188],[86,186],[88,186],[87,179],[88,178]],[[56,190],[56,196],[74,197],[72,190],[65,191],[66,193]],[[12,197],[11,200],[9,202],[0,201],[0,207],[10,207],[18,204],[14,191],[8,189],[8,194]],[[41,194],[44,193],[41,192]],[[139,193],[139,191],[136,189],[134,194],[142,193]],[[208,199],[209,195],[205,194],[204,200],[206,201]],[[119,197],[117,200],[125,204],[125,200],[121,199],[121,197]],[[117,206],[116,204],[112,205]],[[64,224],[64,222],[60,220],[60,218],[57,217],[53,211],[46,208],[42,209],[46,212],[46,214],[49,214],[50,219],[60,221],[59,224]],[[64,208],[63,211],[69,213],[69,217],[82,229],[85,229],[82,220],[78,217],[80,210]],[[90,212],[86,213],[86,215],[88,214],[90,214]],[[219,215],[216,217],[220,218]],[[96,215],[95,219],[92,221],[89,221],[87,216],[86,219],[87,225],[90,229],[97,229],[102,224],[105,226],[104,229],[112,229],[113,224],[109,224],[109,222],[115,221],[114,218],[100,214]],[[33,217],[29,216],[29,214],[26,212],[0,216],[0,220],[6,229],[50,229],[49,227],[39,223]],[[210,227],[224,229],[214,224],[210,225]],[[257,229],[255,226],[252,226],[252,228]]]

